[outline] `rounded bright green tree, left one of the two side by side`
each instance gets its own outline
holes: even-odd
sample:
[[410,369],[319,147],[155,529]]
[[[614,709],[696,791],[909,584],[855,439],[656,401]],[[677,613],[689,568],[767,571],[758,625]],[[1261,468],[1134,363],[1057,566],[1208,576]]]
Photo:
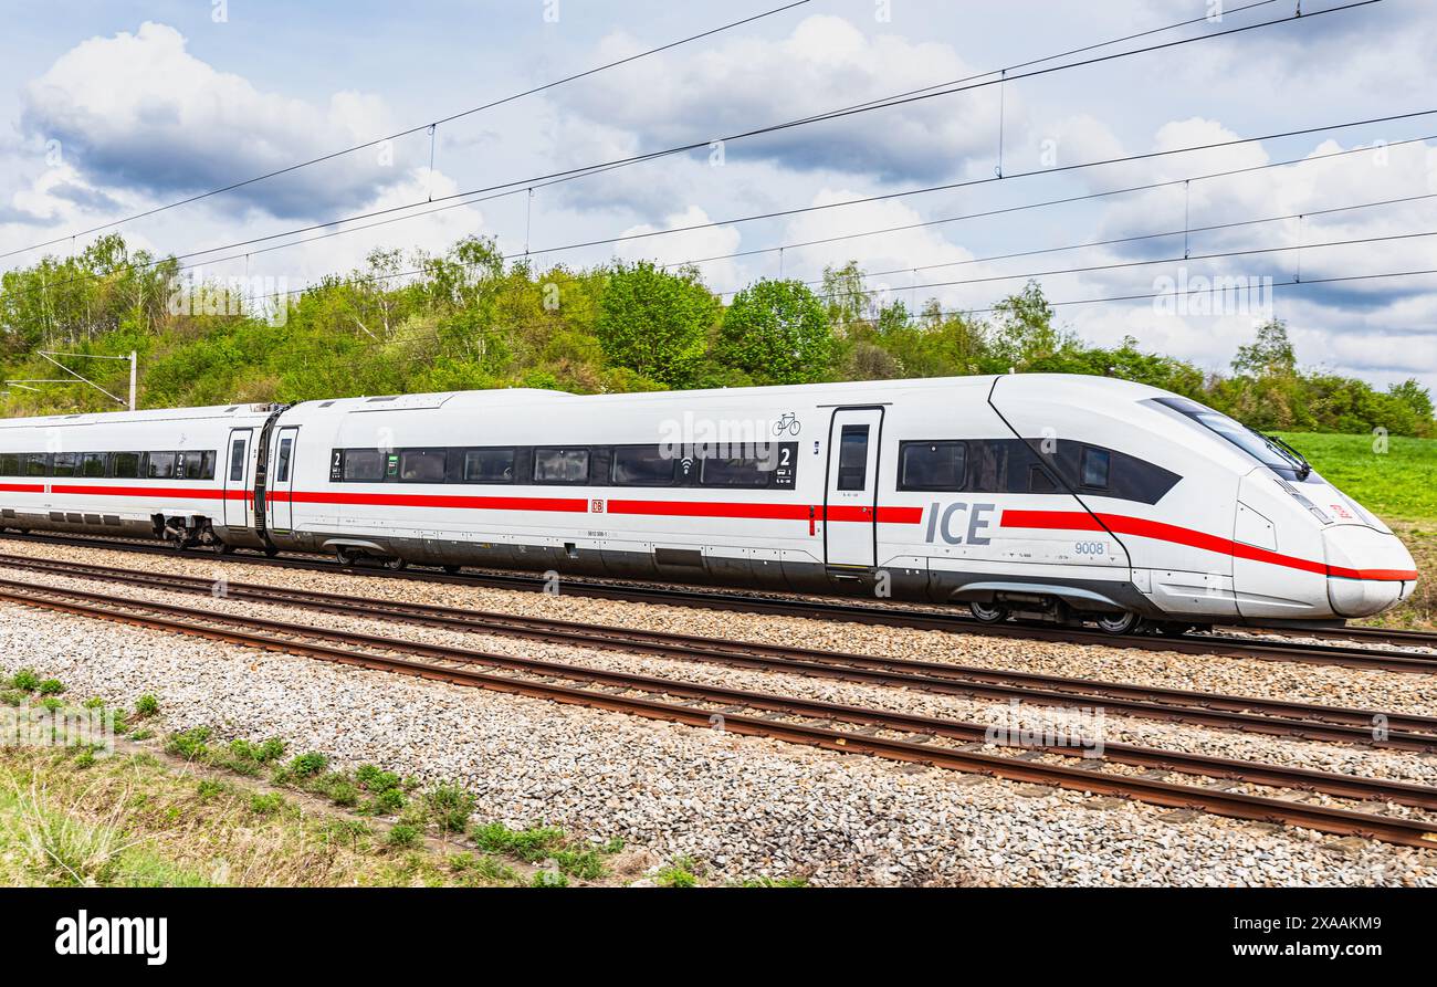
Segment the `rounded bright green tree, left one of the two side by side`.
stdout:
[[718,300],[697,270],[671,274],[647,260],[619,263],[599,299],[595,335],[614,363],[684,386],[703,359],[717,313]]

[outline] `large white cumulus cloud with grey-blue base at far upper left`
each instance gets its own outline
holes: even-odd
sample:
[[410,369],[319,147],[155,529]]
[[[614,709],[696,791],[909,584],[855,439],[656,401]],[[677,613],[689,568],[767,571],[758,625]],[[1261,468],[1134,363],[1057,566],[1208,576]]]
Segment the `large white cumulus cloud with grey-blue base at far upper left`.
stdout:
[[[197,59],[180,32],[157,23],[82,42],[24,86],[22,103],[22,131],[57,141],[86,180],[155,195],[227,185],[387,129],[375,96],[339,92],[313,105],[260,92]],[[362,203],[394,180],[394,168],[369,149],[217,203],[309,217]]]

